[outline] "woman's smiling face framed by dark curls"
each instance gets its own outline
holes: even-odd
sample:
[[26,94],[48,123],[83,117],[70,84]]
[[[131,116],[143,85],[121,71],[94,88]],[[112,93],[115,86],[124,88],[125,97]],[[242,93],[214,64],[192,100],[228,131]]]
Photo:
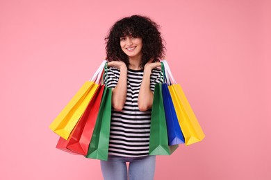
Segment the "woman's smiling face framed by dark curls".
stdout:
[[142,55],[142,38],[131,35],[120,37],[120,47],[128,57],[139,57]]

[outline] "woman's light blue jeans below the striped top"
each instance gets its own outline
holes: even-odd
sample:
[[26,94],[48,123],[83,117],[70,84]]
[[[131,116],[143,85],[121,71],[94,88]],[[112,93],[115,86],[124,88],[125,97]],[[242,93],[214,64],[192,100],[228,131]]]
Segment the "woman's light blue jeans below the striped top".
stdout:
[[[108,156],[108,161],[101,161],[104,180],[152,180],[154,179],[156,156],[122,157]],[[126,162],[129,162],[127,170]],[[127,173],[127,171],[129,173]]]

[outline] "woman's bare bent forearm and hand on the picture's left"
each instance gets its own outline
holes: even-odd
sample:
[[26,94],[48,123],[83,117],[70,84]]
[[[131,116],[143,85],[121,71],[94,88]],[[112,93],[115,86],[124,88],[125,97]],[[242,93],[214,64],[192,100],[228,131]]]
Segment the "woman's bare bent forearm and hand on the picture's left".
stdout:
[[112,106],[116,111],[122,111],[127,94],[127,67],[124,62],[108,62],[108,66],[114,66],[120,69],[120,78],[117,86],[112,90]]

